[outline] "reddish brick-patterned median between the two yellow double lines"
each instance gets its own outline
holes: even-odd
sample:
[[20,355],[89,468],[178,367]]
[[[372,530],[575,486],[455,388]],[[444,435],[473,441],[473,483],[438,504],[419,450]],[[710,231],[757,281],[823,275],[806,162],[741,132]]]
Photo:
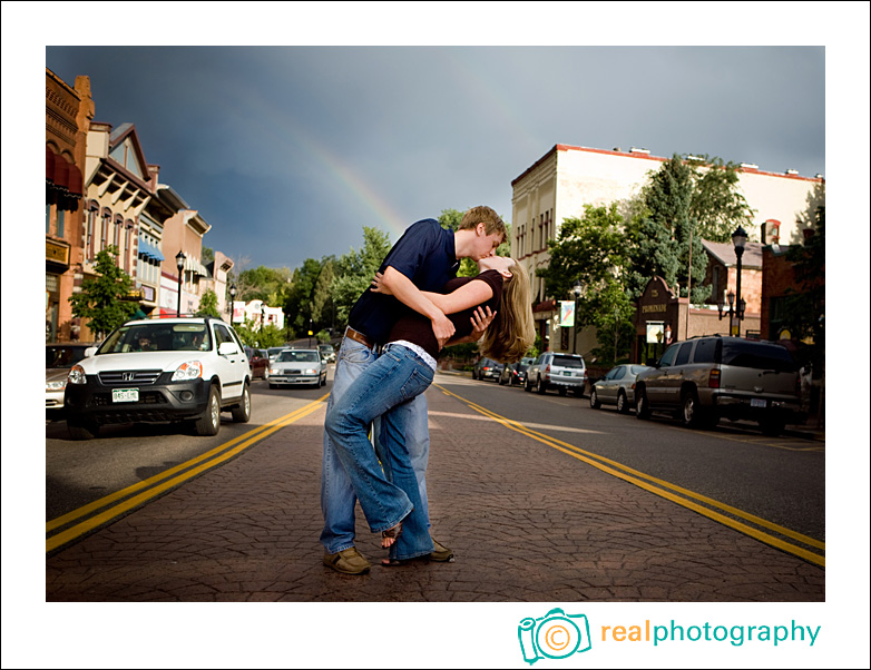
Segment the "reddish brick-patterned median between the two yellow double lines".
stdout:
[[[823,569],[428,400],[433,535],[454,563],[322,565],[321,408],[47,559],[47,601],[824,601]],[[385,553],[361,513],[358,546]]]

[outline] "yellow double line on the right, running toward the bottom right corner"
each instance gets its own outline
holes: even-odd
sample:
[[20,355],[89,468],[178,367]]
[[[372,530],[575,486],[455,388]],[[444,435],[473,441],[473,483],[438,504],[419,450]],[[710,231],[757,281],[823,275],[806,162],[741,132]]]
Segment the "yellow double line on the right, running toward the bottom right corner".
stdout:
[[[627,465],[623,465],[617,461],[613,461],[605,456],[600,456],[598,454],[594,454],[591,452],[585,451],[578,446],[575,446],[574,444],[568,444],[567,442],[562,442],[561,440],[557,440],[556,437],[545,435],[544,433],[539,433],[537,431],[528,428],[521,423],[511,421],[510,418],[506,418],[505,416],[500,416],[499,414],[496,414],[495,412],[491,412],[490,410],[482,407],[481,405],[478,405],[469,400],[466,400],[464,397],[461,397],[456,393],[452,393],[438,384],[433,384],[433,386],[438,386],[446,395],[456,397],[460,402],[466,403],[469,407],[471,407],[479,414],[488,416],[489,418],[492,418],[493,421],[501,423],[502,425],[505,425],[508,428],[511,428],[512,431],[517,431],[518,433],[527,435],[528,437],[531,437],[532,440],[541,442],[542,444],[556,449],[557,451],[568,454],[569,456],[578,459],[579,461],[584,461],[585,463],[593,465],[594,467],[600,470],[601,472],[606,472],[620,480],[635,484],[636,486],[639,486],[645,491],[649,491],[655,495],[665,497],[666,500],[671,500],[672,502],[675,502],[683,508],[693,510],[694,512],[698,512],[699,514],[707,516],[708,519],[713,519],[714,521],[727,525],[731,529],[734,529],[741,533],[750,535],[751,538],[754,538],[760,542],[764,542],[765,544],[770,544],[771,546],[775,546],[782,551],[800,556],[805,561],[814,563],[815,565],[821,565],[823,568],[825,566],[824,555],[809,551],[801,546],[796,546],[795,544],[792,544],[790,542],[785,542],[780,538],[775,538],[774,535],[760,531],[745,523],[742,523],[741,521],[736,521],[735,519],[731,519],[725,514],[721,514],[715,510],[703,506],[693,501],[695,500],[701,503],[704,503],[705,505],[709,505],[711,508],[722,510],[723,512],[732,514],[733,516],[737,516],[738,519],[743,519],[744,521],[753,523],[757,526],[767,529],[774,533],[777,533],[779,535],[783,535],[784,538],[791,538],[797,542],[801,542],[802,544],[806,544],[809,546],[820,549],[823,552],[825,551],[824,542],[820,542],[819,540],[814,540],[813,538],[810,538],[802,533],[795,532],[782,525],[777,525],[776,523],[772,523],[771,521],[766,521],[765,519],[762,519],[754,514],[750,514],[747,512],[744,512],[743,510],[738,510],[737,508],[733,508],[725,503],[718,502],[716,500],[707,497],[706,495],[702,495],[701,493],[696,493],[694,491],[689,491],[688,489],[677,486],[664,480],[659,480],[648,474],[644,474],[643,472],[638,472],[637,470],[634,470]],[[619,469],[619,470],[615,470],[615,469]],[[676,493],[679,493],[679,495],[676,495]],[[687,500],[687,499],[692,499],[692,500]]]

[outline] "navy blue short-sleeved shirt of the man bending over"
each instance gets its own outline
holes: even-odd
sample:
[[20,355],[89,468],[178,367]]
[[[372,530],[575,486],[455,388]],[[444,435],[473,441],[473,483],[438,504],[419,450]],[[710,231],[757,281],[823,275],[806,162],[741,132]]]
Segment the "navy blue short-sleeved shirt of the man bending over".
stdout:
[[[435,219],[427,218],[409,226],[384,258],[379,272],[388,266],[401,272],[421,290],[440,292],[459,267],[453,231]],[[381,344],[390,334],[404,305],[392,295],[366,289],[358,298],[348,325]]]

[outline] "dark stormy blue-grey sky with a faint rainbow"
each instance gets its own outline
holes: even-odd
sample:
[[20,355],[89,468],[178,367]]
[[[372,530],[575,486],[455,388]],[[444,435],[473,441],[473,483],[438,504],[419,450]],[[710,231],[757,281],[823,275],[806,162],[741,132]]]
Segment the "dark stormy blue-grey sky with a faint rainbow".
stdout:
[[204,245],[253,267],[448,208],[511,223],[511,181],[556,144],[825,174],[819,46],[49,46],[46,66],[90,77],[95,120],[135,124]]

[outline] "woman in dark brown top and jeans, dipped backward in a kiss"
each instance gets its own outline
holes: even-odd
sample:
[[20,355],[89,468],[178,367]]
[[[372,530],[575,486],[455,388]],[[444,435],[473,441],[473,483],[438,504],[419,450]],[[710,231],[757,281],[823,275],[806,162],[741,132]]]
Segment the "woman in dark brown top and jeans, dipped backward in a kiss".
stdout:
[[[506,363],[519,361],[535,341],[529,276],[520,264],[501,256],[483,258],[478,266],[477,276],[451,279],[443,294],[424,295],[453,322],[456,338],[472,332],[477,307],[493,311],[481,354]],[[373,290],[386,293],[378,277],[373,284]],[[407,309],[378,361],[326,416],[326,431],[335,442],[369,526],[382,534],[382,546],[390,548],[385,565],[402,564],[433,550],[429,519],[421,509],[418,481],[405,447],[404,421],[409,413],[402,408],[432,383],[439,353],[430,321]],[[369,426],[376,417],[381,421],[374,451]]]

